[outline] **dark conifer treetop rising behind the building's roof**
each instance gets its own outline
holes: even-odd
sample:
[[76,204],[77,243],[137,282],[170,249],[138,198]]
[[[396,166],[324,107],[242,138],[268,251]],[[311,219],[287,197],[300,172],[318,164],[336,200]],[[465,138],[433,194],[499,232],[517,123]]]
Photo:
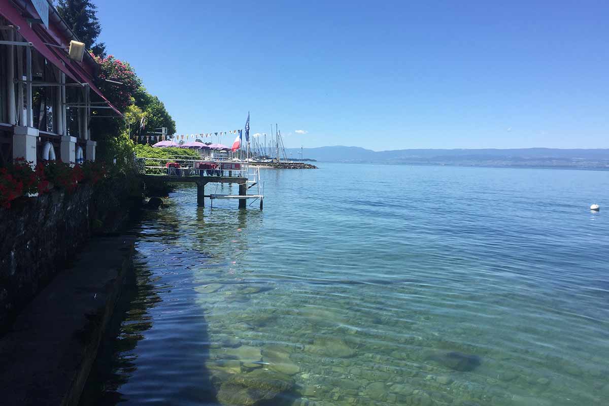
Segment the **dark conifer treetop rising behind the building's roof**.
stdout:
[[105,55],[105,44],[95,42],[102,26],[97,19],[97,6],[91,0],[58,0],[57,12],[87,49]]

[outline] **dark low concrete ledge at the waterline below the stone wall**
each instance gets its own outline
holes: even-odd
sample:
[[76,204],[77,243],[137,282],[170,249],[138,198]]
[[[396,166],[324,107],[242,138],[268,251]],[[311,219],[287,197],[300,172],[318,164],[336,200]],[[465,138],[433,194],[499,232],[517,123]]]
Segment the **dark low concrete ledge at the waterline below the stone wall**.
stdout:
[[77,405],[127,276],[133,237],[95,237],[0,338],[2,405]]

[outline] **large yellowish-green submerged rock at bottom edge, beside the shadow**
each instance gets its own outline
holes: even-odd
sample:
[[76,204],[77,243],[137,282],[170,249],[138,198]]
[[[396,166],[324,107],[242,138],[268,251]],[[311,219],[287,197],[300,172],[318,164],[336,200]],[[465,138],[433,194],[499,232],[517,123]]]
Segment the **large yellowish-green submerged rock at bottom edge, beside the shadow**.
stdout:
[[220,404],[257,406],[280,404],[281,397],[294,388],[294,380],[275,371],[255,369],[229,377],[217,393]]

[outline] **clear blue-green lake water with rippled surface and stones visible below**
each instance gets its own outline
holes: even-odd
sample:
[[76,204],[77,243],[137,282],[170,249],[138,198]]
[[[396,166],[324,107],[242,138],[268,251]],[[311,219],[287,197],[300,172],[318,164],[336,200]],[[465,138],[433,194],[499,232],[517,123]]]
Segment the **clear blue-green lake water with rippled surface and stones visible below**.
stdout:
[[609,222],[586,210],[607,200],[608,172],[326,164],[264,175],[264,212],[197,208],[185,186],[145,215],[136,289],[83,404],[609,396]]

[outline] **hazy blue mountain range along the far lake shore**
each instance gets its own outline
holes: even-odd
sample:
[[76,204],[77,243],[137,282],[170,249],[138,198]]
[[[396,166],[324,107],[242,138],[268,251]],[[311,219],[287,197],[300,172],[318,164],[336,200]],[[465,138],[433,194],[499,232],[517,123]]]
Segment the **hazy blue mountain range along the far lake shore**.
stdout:
[[[286,153],[297,159],[300,148],[286,149]],[[303,158],[343,163],[609,169],[609,149],[404,149],[375,152],[361,147],[336,146],[305,148]]]

